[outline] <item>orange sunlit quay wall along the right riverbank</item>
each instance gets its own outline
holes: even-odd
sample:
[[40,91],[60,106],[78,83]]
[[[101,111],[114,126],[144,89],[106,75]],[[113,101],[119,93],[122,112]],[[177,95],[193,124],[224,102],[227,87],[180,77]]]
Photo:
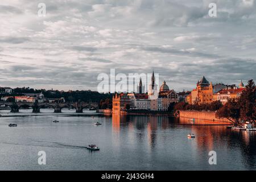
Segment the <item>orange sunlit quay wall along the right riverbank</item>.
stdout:
[[220,123],[232,123],[226,118],[216,118],[215,112],[212,111],[184,111],[180,110],[180,117],[181,118],[195,118],[205,121],[212,121],[212,122],[220,122]]

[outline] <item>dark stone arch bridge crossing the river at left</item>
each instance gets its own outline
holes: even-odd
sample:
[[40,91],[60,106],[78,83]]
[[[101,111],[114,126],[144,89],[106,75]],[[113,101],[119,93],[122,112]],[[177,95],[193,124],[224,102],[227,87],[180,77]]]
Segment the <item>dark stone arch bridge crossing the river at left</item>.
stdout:
[[11,108],[11,113],[18,113],[20,107],[32,107],[32,113],[40,113],[42,107],[51,107],[54,109],[54,113],[61,113],[61,109],[64,107],[75,108],[76,113],[82,113],[85,108],[97,109],[97,102],[72,102],[72,103],[45,103],[45,102],[0,102],[1,105],[6,105]]

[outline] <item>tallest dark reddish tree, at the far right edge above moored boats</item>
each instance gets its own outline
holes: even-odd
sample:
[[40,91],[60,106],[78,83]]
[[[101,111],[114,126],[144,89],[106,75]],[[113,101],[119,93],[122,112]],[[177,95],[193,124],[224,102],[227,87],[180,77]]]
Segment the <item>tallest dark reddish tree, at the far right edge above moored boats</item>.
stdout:
[[255,122],[255,95],[255,83],[253,80],[249,80],[246,85],[246,90],[242,92],[238,100],[241,107],[240,117],[245,121]]

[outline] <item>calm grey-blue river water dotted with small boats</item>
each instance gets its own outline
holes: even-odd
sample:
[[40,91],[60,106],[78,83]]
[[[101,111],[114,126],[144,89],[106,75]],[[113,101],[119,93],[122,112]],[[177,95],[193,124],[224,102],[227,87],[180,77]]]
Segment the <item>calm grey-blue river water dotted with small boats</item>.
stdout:
[[[255,131],[174,117],[0,110],[0,170],[255,170]],[[53,123],[54,119],[59,123]],[[101,126],[93,123],[101,122]],[[17,123],[18,127],[9,127]],[[196,138],[187,138],[194,133]],[[84,147],[94,143],[100,151]],[[46,165],[38,152],[46,152]],[[210,165],[209,152],[217,164]]]

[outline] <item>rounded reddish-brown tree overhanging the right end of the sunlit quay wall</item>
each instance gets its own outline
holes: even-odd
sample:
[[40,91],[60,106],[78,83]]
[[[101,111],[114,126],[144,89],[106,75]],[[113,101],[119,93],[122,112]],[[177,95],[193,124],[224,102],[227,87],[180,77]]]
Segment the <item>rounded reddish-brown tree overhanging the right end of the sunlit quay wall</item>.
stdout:
[[224,106],[217,110],[216,117],[227,118],[229,121],[233,122],[234,125],[239,125],[240,106],[238,105],[238,102],[234,99],[228,100]]

